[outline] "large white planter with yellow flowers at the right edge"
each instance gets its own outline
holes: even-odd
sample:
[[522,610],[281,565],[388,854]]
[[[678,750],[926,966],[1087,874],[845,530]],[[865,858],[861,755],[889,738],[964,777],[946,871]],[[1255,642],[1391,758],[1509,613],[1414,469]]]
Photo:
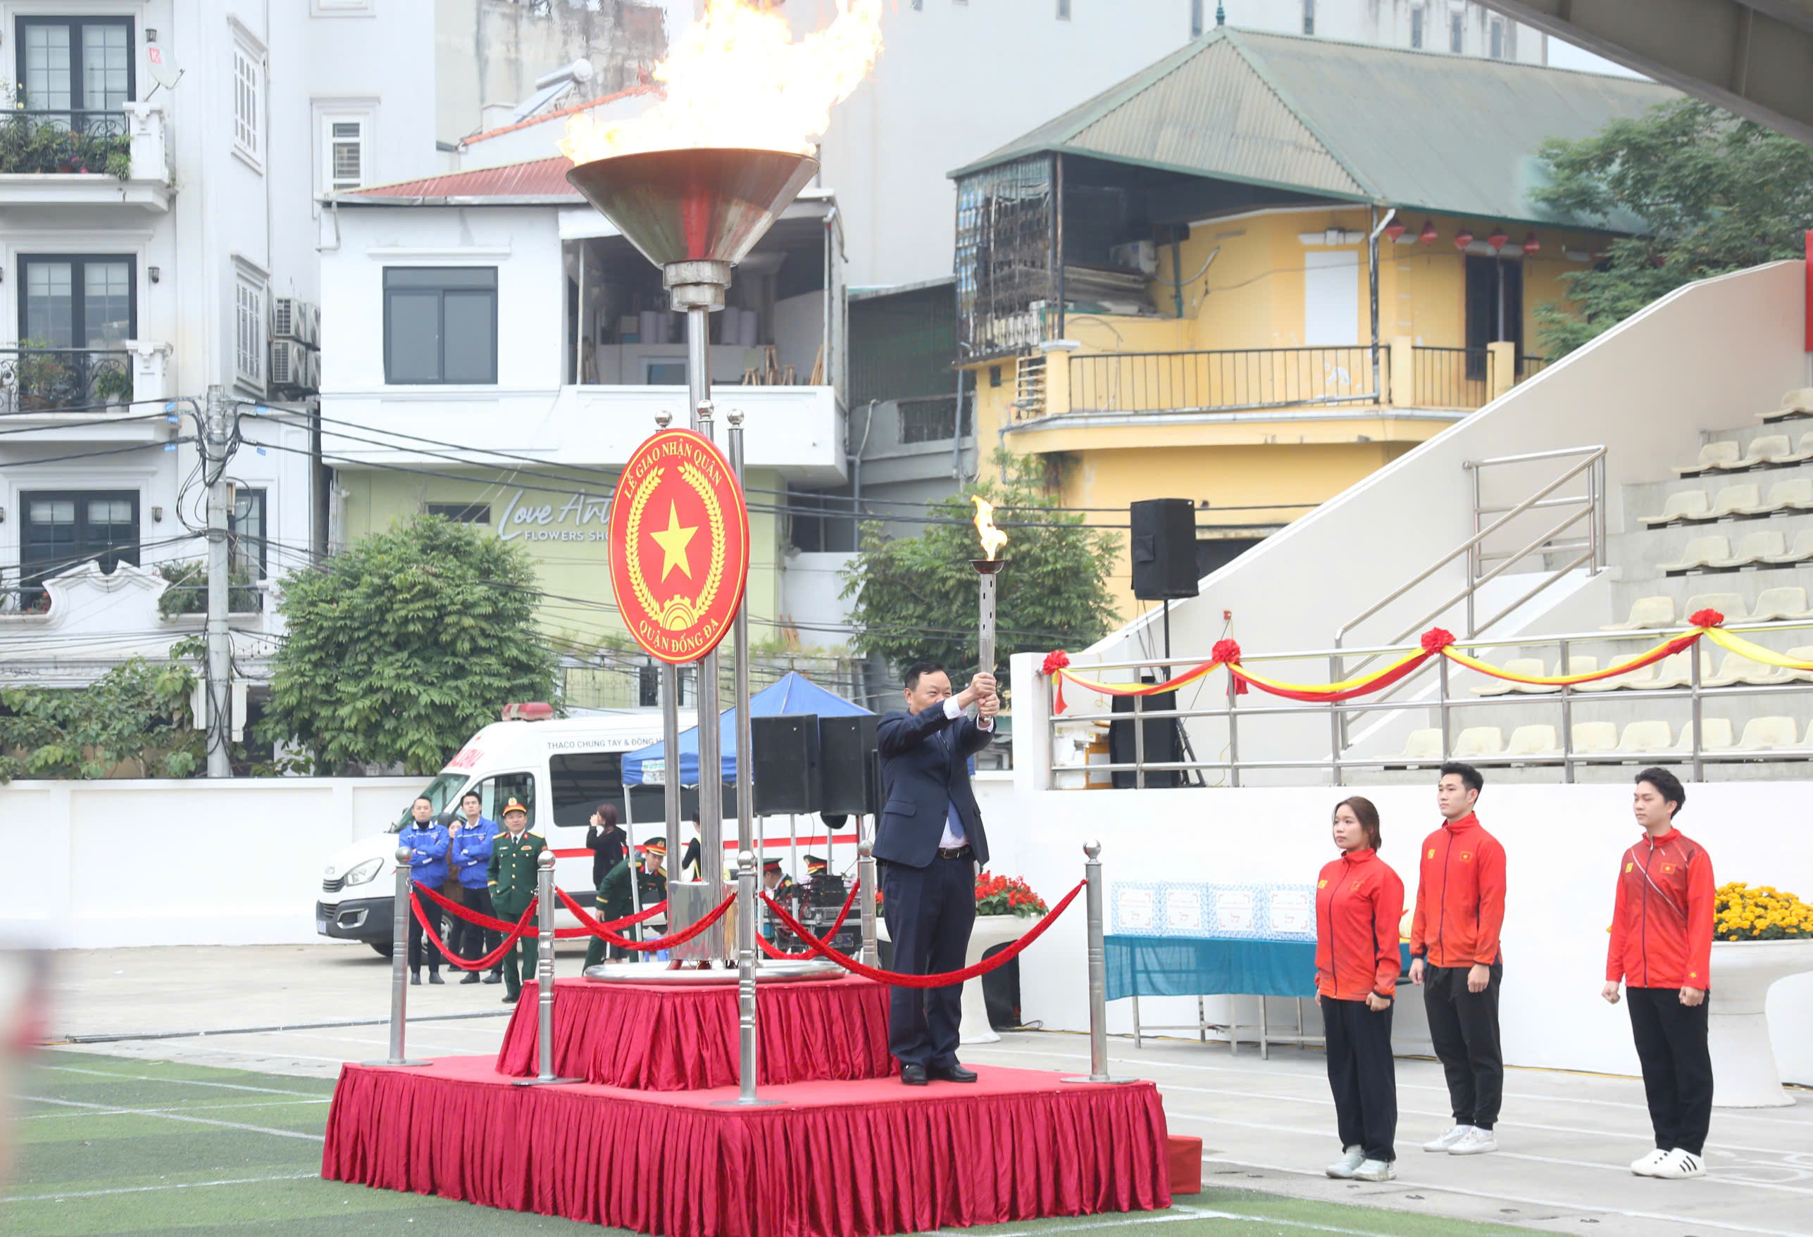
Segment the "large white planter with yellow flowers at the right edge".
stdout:
[[1777,980],[1802,971],[1813,971],[1813,907],[1773,886],[1719,886],[1706,1023],[1721,1108],[1793,1103],[1775,1069],[1764,1003]]

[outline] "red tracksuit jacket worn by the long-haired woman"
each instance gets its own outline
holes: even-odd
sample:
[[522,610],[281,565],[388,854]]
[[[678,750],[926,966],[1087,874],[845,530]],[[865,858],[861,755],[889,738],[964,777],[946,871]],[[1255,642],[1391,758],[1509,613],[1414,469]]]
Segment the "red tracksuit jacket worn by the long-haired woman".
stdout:
[[1371,846],[1347,851],[1316,880],[1316,991],[1338,1002],[1398,987],[1403,880]]

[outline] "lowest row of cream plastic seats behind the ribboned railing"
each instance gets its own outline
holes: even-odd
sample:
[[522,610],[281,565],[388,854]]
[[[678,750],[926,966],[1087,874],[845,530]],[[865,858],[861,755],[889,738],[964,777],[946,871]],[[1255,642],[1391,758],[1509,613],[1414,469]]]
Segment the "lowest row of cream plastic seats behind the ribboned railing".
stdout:
[[[1808,723],[1802,737],[1793,717],[1753,717],[1744,723],[1742,739],[1731,741],[1733,730],[1728,717],[1701,719],[1701,752],[1789,752],[1813,750],[1813,723]],[[1688,753],[1693,750],[1693,723],[1681,724],[1681,737],[1666,721],[1648,719],[1624,724],[1623,734],[1612,721],[1577,721],[1572,728],[1572,748],[1575,755],[1599,755],[1624,752],[1630,755]],[[1454,737],[1449,752],[1452,761],[1467,761],[1487,755],[1557,759],[1561,739],[1556,726],[1530,724],[1510,732],[1510,741],[1498,726],[1469,726]],[[1441,730],[1412,730],[1403,752],[1396,761],[1436,762],[1441,761]]]

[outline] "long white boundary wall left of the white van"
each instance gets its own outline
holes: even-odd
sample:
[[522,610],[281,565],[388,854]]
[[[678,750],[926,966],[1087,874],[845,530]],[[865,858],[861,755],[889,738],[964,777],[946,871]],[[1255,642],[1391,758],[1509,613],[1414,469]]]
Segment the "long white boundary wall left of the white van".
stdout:
[[328,857],[424,777],[20,781],[0,788],[0,924],[53,949],[325,940]]

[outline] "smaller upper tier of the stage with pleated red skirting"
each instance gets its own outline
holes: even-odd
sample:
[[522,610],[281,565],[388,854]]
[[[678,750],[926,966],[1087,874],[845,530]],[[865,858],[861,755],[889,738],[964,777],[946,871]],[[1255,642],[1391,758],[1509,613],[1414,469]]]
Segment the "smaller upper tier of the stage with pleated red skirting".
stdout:
[[[555,980],[555,1072],[631,1090],[736,1087],[736,985]],[[504,1032],[497,1069],[537,1072],[535,983]],[[888,1078],[888,991],[870,980],[763,983],[758,1087]]]

